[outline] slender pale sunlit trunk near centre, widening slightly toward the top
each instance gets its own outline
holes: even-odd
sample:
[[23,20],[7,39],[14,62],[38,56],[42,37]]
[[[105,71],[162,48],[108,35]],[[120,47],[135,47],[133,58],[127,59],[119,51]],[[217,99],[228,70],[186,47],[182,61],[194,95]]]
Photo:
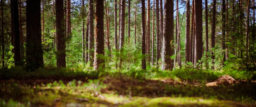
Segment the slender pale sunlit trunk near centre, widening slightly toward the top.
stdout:
[[125,0],[121,0],[121,13],[120,13],[120,37],[119,37],[119,69],[122,68],[122,57],[125,42]]

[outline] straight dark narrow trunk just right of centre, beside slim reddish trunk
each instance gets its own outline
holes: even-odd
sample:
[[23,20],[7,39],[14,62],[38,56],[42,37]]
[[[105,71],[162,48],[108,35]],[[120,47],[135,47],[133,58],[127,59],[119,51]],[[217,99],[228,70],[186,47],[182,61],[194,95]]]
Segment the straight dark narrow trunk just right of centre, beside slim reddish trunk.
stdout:
[[141,0],[141,34],[142,34],[142,61],[141,61],[141,68],[146,69],[146,43],[145,43],[145,0]]

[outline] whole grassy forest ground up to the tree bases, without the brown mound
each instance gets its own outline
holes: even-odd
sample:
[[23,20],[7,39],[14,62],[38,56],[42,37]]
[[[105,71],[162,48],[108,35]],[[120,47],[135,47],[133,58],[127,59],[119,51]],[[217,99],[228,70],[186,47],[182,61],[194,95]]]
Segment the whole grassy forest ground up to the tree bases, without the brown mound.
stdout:
[[[22,67],[0,71],[0,107],[253,107],[254,76],[246,71],[177,69],[98,72]],[[239,83],[207,87],[219,76]]]

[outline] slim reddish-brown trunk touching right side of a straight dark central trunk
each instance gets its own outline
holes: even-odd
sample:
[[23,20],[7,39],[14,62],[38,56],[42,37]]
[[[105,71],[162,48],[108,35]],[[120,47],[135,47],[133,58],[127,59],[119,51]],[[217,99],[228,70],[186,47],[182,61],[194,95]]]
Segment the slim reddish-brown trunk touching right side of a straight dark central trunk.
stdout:
[[146,49],[146,56],[147,56],[147,62],[150,64],[150,0],[147,0],[147,49]]

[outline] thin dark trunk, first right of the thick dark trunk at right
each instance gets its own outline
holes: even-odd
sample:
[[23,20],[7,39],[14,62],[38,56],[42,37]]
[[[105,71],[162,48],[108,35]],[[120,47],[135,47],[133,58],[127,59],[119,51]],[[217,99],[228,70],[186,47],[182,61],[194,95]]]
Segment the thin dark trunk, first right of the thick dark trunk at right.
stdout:
[[209,52],[209,36],[208,36],[208,0],[205,0],[205,55],[206,55],[206,68],[209,68],[208,55]]

